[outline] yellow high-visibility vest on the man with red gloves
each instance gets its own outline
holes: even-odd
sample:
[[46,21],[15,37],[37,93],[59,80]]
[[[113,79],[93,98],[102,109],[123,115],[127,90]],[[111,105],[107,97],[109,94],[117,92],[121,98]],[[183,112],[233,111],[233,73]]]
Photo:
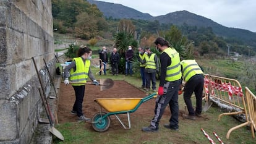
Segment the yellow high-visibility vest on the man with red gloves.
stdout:
[[171,65],[166,69],[165,80],[168,82],[173,82],[181,79],[182,73],[179,53],[177,53],[174,48],[166,48],[162,53],[168,54],[168,56],[171,58]]

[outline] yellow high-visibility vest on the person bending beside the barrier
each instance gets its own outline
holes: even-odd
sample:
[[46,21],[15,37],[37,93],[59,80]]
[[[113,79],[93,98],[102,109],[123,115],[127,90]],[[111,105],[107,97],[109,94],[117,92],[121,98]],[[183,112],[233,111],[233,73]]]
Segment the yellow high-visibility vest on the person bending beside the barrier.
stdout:
[[203,74],[202,69],[198,66],[195,60],[183,60],[181,61],[181,65],[182,76],[185,82],[189,81],[189,79],[196,74]]

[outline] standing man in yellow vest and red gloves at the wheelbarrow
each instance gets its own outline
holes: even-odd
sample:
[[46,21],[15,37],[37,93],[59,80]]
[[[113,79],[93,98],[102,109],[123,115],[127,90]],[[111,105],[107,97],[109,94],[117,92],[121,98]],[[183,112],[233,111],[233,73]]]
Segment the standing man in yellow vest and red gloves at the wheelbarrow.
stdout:
[[164,127],[171,130],[179,130],[179,104],[178,91],[181,85],[181,64],[179,53],[169,46],[169,42],[163,38],[157,38],[154,42],[156,48],[161,51],[161,75],[158,88],[158,98],[155,104],[155,116],[150,122],[150,126],[143,127],[143,132],[157,132],[160,119],[164,109],[169,104],[171,117]]

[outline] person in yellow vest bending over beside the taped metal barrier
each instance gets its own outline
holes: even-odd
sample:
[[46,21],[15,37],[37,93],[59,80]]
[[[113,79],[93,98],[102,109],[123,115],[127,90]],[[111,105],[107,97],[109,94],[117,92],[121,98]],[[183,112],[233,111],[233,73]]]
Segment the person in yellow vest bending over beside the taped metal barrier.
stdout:
[[[195,120],[195,116],[200,117],[202,112],[203,71],[195,60],[183,60],[181,61],[181,67],[182,77],[186,82],[183,97],[189,111],[189,114],[183,114],[182,117]],[[190,100],[193,92],[196,99],[195,111]]]

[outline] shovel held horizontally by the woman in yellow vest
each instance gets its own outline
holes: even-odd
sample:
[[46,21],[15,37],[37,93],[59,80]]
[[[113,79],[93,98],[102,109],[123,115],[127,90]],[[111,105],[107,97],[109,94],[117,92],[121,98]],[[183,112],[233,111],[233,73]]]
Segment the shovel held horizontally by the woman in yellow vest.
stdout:
[[[83,82],[69,82],[69,83],[85,84],[85,85],[95,85],[92,82],[87,82],[87,83],[83,83]],[[108,90],[109,88],[113,87],[114,81],[111,78],[100,79],[100,84],[99,85],[100,85],[100,91]]]

